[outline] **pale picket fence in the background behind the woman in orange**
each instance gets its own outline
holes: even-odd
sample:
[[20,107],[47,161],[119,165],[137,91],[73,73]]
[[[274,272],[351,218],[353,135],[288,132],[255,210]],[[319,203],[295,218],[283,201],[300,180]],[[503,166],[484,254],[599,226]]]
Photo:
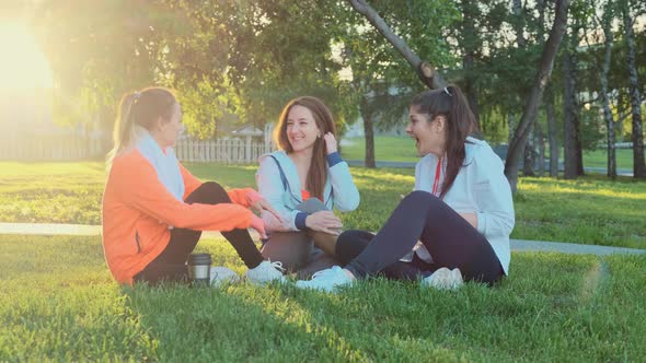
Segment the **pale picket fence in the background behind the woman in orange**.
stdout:
[[[191,140],[177,142],[175,153],[184,162],[255,164],[272,147],[249,139]],[[0,137],[0,160],[11,161],[80,161],[104,159],[106,147],[102,139],[55,136],[38,139]]]

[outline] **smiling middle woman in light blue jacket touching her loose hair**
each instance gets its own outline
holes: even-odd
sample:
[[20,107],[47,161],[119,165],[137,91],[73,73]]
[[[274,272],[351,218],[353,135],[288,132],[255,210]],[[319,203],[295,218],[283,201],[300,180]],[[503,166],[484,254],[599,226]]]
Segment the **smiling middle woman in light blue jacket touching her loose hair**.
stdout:
[[[284,108],[274,138],[279,151],[263,155],[256,173],[261,195],[278,212],[263,213],[269,235],[262,253],[288,270],[308,274],[334,264],[341,220],[359,191],[337,152],[332,113],[319,98],[303,96]],[[303,269],[304,268],[304,269]]]

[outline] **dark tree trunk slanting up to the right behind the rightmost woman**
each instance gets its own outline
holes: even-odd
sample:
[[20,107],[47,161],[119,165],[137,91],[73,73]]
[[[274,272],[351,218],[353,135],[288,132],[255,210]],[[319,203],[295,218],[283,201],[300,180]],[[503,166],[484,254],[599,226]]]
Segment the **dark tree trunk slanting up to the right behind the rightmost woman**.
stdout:
[[550,31],[547,42],[545,42],[543,47],[537,79],[527,97],[522,117],[518,122],[518,127],[514,133],[514,139],[511,139],[509,143],[509,153],[507,154],[507,160],[505,162],[505,175],[507,176],[507,179],[509,179],[512,191],[516,191],[516,185],[518,182],[518,161],[520,160],[522,151],[524,150],[529,131],[535,121],[543,90],[545,89],[545,85],[550,80],[550,75],[552,74],[554,58],[556,57],[558,46],[561,45],[561,39],[563,38],[563,34],[567,27],[568,5],[569,0],[556,1],[556,15],[554,16],[554,24]]

